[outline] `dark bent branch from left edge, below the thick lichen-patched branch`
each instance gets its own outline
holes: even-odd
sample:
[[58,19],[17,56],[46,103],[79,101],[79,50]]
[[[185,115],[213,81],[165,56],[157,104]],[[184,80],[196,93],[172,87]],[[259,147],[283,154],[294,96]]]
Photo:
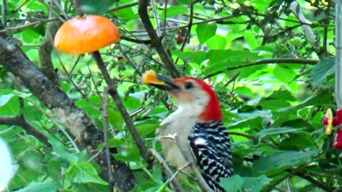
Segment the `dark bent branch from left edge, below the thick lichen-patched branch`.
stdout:
[[39,129],[34,127],[30,122],[26,121],[23,115],[18,115],[16,117],[0,117],[0,124],[6,125],[16,125],[25,129],[27,134],[33,135],[40,142],[45,144],[48,147],[51,147],[51,144],[48,142],[48,137],[41,132]]

